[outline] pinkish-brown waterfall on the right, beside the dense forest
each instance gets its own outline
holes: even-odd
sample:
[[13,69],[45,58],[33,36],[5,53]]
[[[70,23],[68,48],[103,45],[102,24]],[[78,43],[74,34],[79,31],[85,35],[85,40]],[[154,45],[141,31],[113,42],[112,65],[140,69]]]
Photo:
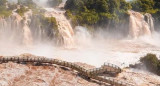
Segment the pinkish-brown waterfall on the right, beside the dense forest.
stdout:
[[130,14],[130,31],[129,36],[132,38],[138,38],[143,35],[151,36],[151,31],[154,30],[153,18],[151,15],[146,14],[147,22],[144,15],[135,11],[128,11]]

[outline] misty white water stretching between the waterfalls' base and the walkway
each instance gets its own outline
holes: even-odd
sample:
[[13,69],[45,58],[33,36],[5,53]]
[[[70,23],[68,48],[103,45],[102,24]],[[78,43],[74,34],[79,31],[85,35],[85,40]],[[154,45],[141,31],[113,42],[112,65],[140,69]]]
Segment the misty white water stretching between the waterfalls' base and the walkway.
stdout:
[[[104,62],[116,64],[120,67],[126,67],[129,64],[138,62],[141,56],[147,53],[160,55],[160,46],[158,36],[155,39],[142,37],[136,40],[114,40],[93,38],[84,28],[77,27],[74,39],[76,40],[76,49],[64,49],[55,47],[52,43],[39,43],[32,48],[26,49],[16,44],[0,44],[0,55],[19,55],[22,53],[31,53],[38,56],[49,58],[58,58],[70,62],[84,62],[94,66],[101,66]],[[80,36],[80,34],[82,34]]]

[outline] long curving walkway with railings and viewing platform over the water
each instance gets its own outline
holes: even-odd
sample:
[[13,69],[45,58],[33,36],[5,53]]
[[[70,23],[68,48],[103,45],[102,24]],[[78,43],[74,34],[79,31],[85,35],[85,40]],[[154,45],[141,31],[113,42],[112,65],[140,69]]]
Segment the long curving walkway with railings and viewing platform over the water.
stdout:
[[[102,65],[100,68],[93,68],[93,69],[85,69],[84,67],[81,67],[75,63],[71,63],[71,62],[67,62],[67,61],[62,61],[62,60],[58,60],[58,59],[49,59],[49,58],[45,58],[45,57],[41,57],[41,56],[31,56],[31,57],[26,57],[26,56],[4,56],[4,57],[0,57],[0,63],[7,63],[7,62],[16,62],[16,63],[40,63],[40,64],[56,64],[56,65],[60,65],[60,66],[64,66],[64,67],[68,67],[71,69],[74,69],[76,71],[78,71],[79,73],[104,82],[104,83],[108,83],[110,85],[114,85],[114,86],[134,86],[133,84],[130,83],[124,83],[122,81],[118,81],[115,80],[111,77],[104,77],[104,76],[100,76],[99,74],[103,74],[108,73],[108,74],[118,74],[121,72],[121,68],[119,68],[116,65],[113,64],[109,64],[109,63],[105,63],[104,65]],[[112,70],[111,70],[112,69]]]

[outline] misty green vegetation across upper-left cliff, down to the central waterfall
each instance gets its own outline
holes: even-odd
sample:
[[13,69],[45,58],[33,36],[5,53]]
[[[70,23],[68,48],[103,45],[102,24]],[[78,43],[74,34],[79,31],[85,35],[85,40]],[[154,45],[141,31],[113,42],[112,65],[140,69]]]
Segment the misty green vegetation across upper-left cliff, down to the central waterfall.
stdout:
[[[51,0],[50,0],[51,1]],[[61,0],[56,0],[57,5],[61,2]],[[16,12],[23,16],[25,12],[29,9],[32,10],[32,20],[30,23],[30,28],[34,30],[33,32],[36,33],[36,29],[42,29],[49,38],[58,37],[58,25],[56,19],[54,17],[45,17],[44,12],[45,10],[41,7],[38,7],[32,0],[18,0],[17,4],[14,3],[7,3],[7,0],[0,0],[0,17],[8,17],[12,14],[12,11],[17,8],[19,5],[20,8],[16,10]]]

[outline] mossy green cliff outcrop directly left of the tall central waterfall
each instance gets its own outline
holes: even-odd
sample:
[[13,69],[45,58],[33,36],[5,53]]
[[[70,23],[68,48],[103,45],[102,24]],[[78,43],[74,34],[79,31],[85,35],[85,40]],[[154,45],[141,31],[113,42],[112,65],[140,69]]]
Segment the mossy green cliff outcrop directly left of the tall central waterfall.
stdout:
[[44,31],[49,38],[58,37],[58,24],[54,17],[45,17],[44,15],[39,14],[33,15],[31,19],[30,26],[35,30],[33,32],[36,32],[36,29],[40,27],[40,31]]

